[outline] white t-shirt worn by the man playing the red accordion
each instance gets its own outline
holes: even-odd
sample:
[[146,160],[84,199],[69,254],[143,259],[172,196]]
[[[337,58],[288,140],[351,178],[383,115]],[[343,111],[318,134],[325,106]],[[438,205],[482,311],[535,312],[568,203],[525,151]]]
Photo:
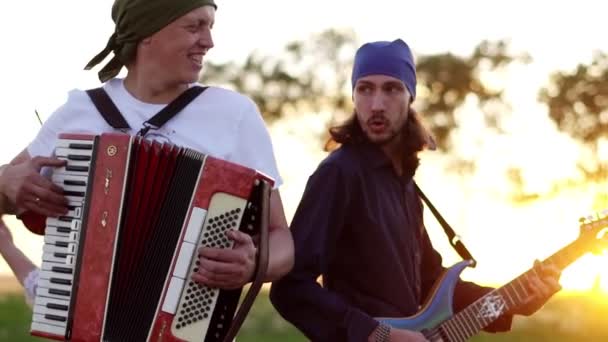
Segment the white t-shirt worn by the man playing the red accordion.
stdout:
[[[112,79],[104,89],[135,135],[165,105],[141,102],[124,87],[122,79]],[[95,108],[85,91],[72,90],[67,102],[44,123],[27,151],[31,157],[51,156],[59,133],[101,134],[118,132]],[[268,130],[255,103],[239,93],[209,87],[186,108],[158,130],[146,135],[159,142],[170,142],[210,156],[256,169],[281,183]],[[39,270],[32,271],[24,283],[28,303],[33,302]]]

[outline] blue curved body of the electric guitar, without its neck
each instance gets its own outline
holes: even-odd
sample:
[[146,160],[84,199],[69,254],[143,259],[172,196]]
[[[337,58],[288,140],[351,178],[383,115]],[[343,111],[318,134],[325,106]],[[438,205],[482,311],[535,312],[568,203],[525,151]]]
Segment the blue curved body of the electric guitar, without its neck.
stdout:
[[468,260],[461,261],[447,269],[435,283],[429,298],[422,309],[409,317],[376,317],[381,323],[397,329],[424,331],[437,327],[453,315],[452,302],[454,289],[462,271],[471,265]]

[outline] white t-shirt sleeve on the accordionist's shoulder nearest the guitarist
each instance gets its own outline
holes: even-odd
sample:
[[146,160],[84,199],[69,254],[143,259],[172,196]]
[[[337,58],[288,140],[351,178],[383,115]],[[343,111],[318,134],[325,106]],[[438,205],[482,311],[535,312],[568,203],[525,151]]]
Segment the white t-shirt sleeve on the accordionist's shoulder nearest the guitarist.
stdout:
[[283,180],[279,175],[270,134],[257,106],[250,99],[247,99],[238,123],[236,141],[232,159],[270,176],[275,181],[274,188],[277,189]]

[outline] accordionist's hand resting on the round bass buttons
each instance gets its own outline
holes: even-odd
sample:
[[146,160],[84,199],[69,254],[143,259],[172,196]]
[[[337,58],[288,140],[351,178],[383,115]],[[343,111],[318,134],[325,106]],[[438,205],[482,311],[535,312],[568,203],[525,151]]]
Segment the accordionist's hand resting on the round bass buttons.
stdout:
[[236,289],[249,282],[255,272],[256,247],[251,236],[237,231],[226,232],[234,248],[199,249],[200,267],[192,275],[196,282],[222,289]]

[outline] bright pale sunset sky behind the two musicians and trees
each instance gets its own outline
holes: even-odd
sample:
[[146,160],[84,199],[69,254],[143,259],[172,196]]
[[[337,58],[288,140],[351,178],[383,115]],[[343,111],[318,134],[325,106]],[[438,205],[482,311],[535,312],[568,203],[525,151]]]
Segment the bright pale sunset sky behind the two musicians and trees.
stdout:
[[[463,151],[479,155],[474,179],[443,172],[441,158],[423,156],[418,182],[463,239],[479,266],[465,271],[472,280],[498,284],[577,236],[578,218],[592,212],[593,189],[574,189],[531,205],[504,200],[508,191],[496,172],[500,166],[524,168],[531,190],[543,191],[554,179],[575,177],[578,150],[559,134],[536,102],[549,72],[588,63],[595,51],[608,51],[605,13],[600,1],[321,1],[217,0],[214,62],[242,60],[258,50],[279,53],[285,44],[328,28],[352,29],[360,42],[402,38],[416,55],[451,52],[468,55],[482,40],[508,39],[514,53],[528,53],[532,63],[516,65],[496,80],[507,88],[513,115],[509,135],[480,130],[473,111],[459,113]],[[100,51],[113,30],[110,0],[21,0],[0,4],[0,163],[6,163],[34,138],[42,120],[73,88],[98,86],[96,72],[84,65]],[[203,71],[204,73],[204,71]],[[468,104],[469,107],[474,104]],[[467,107],[467,108],[469,108]],[[471,107],[472,108],[472,107]],[[327,115],[302,115],[269,127],[288,219],[308,175],[324,154],[316,134]],[[559,153],[554,153],[554,151]],[[553,151],[553,152],[552,152]],[[298,158],[293,158],[297,155]],[[297,159],[297,160],[294,160]],[[16,226],[14,221],[12,222]],[[433,241],[445,265],[457,261],[440,228],[427,217]],[[16,227],[20,228],[20,227]],[[33,259],[40,239],[13,229],[17,244]],[[606,259],[587,258],[565,273],[563,284],[589,287]],[[605,268],[605,267],[604,267]],[[0,273],[7,268],[0,262]],[[608,288],[608,274],[604,275]]]

